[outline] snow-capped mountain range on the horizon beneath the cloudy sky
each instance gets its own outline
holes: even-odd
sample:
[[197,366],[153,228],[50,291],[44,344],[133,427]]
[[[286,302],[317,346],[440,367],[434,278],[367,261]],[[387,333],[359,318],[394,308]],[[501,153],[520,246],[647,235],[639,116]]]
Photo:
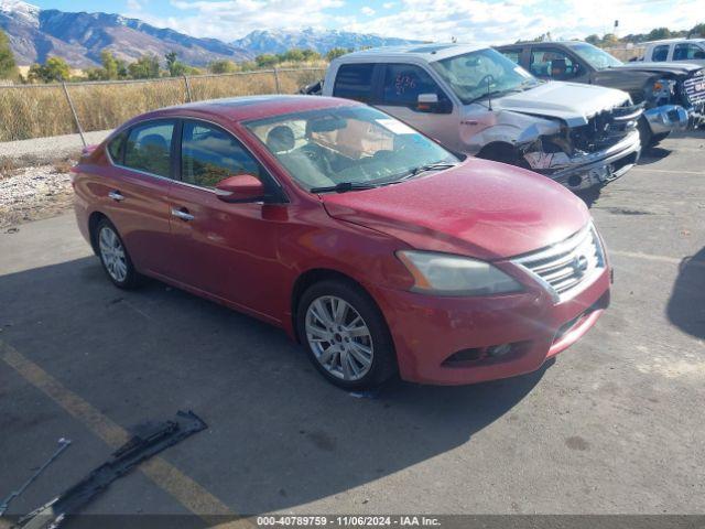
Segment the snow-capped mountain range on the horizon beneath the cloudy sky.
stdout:
[[145,53],[163,57],[174,51],[187,64],[205,65],[220,58],[246,61],[262,53],[281,53],[292,47],[326,53],[333,47],[357,50],[419,42],[306,28],[253,31],[242,39],[225,43],[155,28],[119,14],[40,9],[22,0],[0,0],[0,29],[8,34],[18,64],[42,63],[56,55],[74,67],[96,66],[104,48],[127,61]]

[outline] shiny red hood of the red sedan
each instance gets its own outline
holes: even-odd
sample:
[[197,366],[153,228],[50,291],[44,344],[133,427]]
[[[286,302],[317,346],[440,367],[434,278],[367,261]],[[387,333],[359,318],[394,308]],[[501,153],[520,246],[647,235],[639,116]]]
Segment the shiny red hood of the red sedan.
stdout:
[[589,220],[585,204],[550,179],[476,158],[399,184],[322,199],[332,217],[413,248],[486,260],[553,245]]

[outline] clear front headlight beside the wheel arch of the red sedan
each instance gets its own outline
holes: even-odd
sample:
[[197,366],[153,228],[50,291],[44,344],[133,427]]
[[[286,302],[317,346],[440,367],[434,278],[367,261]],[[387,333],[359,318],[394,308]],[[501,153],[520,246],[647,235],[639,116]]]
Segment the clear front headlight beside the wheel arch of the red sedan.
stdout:
[[435,295],[491,295],[523,290],[521,283],[489,262],[431,251],[398,251],[413,276],[414,292]]

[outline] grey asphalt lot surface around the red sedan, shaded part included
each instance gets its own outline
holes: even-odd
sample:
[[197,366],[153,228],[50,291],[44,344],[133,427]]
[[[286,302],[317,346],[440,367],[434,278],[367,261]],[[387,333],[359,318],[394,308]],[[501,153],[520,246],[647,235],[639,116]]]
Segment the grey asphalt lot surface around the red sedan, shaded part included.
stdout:
[[351,396],[259,321],[158,282],[115,289],[70,214],[0,233],[0,496],[61,436],[74,445],[11,514],[126,429],[192,409],[207,431],[86,511],[705,514],[704,140],[666,140],[589,199],[615,268],[595,328],[538,373],[469,387]]

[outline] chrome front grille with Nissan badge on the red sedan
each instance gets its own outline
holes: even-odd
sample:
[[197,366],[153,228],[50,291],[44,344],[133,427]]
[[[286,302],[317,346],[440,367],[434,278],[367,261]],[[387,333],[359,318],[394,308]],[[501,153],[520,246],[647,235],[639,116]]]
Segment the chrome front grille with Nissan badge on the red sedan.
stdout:
[[513,262],[531,272],[563,301],[574,289],[590,281],[605,268],[605,252],[597,230],[589,224],[577,234],[543,250],[521,256]]

